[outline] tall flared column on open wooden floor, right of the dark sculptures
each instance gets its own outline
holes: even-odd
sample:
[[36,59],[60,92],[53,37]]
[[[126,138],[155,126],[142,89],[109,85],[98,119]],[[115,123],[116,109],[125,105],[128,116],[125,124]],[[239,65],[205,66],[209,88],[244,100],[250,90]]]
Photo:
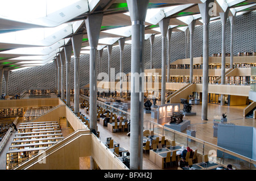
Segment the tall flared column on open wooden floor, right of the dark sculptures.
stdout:
[[209,65],[209,21],[210,21],[210,8],[209,3],[213,0],[207,0],[204,3],[199,3],[200,14],[203,19],[203,98],[202,98],[202,120],[208,120],[208,65]]

